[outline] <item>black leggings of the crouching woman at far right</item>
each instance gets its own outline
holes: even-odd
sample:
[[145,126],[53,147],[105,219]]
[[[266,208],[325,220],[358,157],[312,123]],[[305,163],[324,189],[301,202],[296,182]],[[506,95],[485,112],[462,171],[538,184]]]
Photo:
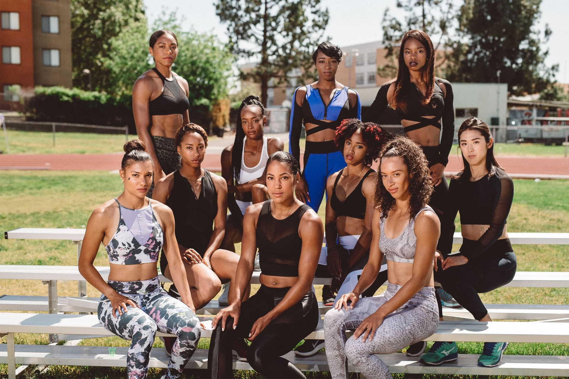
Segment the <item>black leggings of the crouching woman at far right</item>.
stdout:
[[[468,240],[464,240],[468,243]],[[488,314],[488,310],[480,300],[479,293],[500,288],[512,281],[516,274],[516,255],[512,251],[509,239],[497,240],[492,247],[476,260],[468,261],[461,266],[453,266],[443,270],[438,262],[435,280],[440,282],[444,290],[465,307],[472,316],[480,320]],[[442,305],[439,303],[439,315],[442,316]]]

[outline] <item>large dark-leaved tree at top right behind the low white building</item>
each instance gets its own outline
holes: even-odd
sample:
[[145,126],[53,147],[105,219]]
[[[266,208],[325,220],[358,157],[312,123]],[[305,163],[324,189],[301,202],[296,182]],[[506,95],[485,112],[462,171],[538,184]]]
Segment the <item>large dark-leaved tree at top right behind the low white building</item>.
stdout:
[[[548,67],[539,22],[541,0],[465,0],[456,39],[450,41],[447,79],[508,83],[515,95],[539,93],[554,82],[557,65]],[[498,76],[499,73],[499,76]]]

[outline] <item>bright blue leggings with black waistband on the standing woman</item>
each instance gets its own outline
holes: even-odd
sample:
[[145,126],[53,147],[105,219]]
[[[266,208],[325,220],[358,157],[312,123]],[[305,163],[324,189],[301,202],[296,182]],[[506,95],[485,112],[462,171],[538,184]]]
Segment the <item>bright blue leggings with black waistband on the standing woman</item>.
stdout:
[[337,151],[334,141],[306,141],[304,148],[304,180],[310,201],[306,204],[318,213],[326,191],[326,180],[346,166],[344,155]]

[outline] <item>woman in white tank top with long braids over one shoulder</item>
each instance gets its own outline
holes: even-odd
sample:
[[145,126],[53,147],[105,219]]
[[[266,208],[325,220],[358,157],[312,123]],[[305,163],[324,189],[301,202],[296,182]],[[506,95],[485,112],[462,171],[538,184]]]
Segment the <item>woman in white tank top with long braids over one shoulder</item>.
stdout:
[[280,138],[263,136],[267,119],[259,98],[249,95],[239,107],[235,141],[221,153],[221,176],[228,186],[225,237],[221,247],[235,251],[241,242],[243,215],[247,207],[269,199],[265,187],[265,166],[272,153],[284,148]]

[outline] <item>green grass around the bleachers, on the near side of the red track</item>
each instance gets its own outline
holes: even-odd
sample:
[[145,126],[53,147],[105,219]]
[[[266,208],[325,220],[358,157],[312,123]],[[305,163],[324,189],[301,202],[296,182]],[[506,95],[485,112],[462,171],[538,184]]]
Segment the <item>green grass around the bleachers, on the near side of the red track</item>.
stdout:
[[[510,232],[567,232],[569,229],[569,181],[534,182],[514,180],[514,202],[508,218]],[[118,174],[108,172],[0,172],[0,227],[2,231],[19,227],[85,227],[92,210],[102,202],[116,197],[122,191]],[[324,217],[324,206],[319,215]],[[458,228],[460,230],[460,227]],[[456,245],[457,249],[458,246]],[[240,246],[237,245],[240,251]],[[569,246],[567,245],[516,245],[514,250],[521,271],[568,271]],[[74,265],[75,246],[71,241],[52,240],[0,240],[0,264]],[[104,248],[100,248],[96,265],[108,264]],[[380,289],[381,292],[383,289]],[[47,289],[40,281],[0,280],[0,295],[46,295]],[[320,289],[316,290],[321,300]],[[76,282],[60,282],[60,296],[76,296]],[[88,285],[88,295],[100,295]],[[481,298],[486,303],[567,304],[569,289],[559,288],[501,288]],[[6,338],[2,338],[6,343]],[[47,344],[47,335],[16,335],[16,343]],[[88,339],[83,345],[128,346],[129,342],[118,337]],[[460,353],[480,353],[480,343],[459,343]],[[156,347],[162,347],[156,339]],[[200,348],[207,348],[209,340],[200,341]],[[569,344],[512,343],[506,354],[569,355]],[[163,370],[150,369],[149,377],[158,378]],[[6,377],[7,365],[0,365],[0,378]],[[38,378],[116,378],[124,377],[124,368],[97,368],[51,366],[34,376]],[[204,377],[203,370],[196,370],[188,377]],[[308,377],[329,377],[327,373],[307,373]],[[253,372],[241,371],[238,378],[259,378]],[[403,376],[394,374],[395,378]],[[409,377],[409,376],[407,376]],[[413,376],[417,377],[417,376]],[[420,376],[419,376],[420,377]],[[424,376],[434,378],[434,376]],[[469,376],[437,376],[437,378],[471,378]],[[502,377],[506,378],[506,377]]]

